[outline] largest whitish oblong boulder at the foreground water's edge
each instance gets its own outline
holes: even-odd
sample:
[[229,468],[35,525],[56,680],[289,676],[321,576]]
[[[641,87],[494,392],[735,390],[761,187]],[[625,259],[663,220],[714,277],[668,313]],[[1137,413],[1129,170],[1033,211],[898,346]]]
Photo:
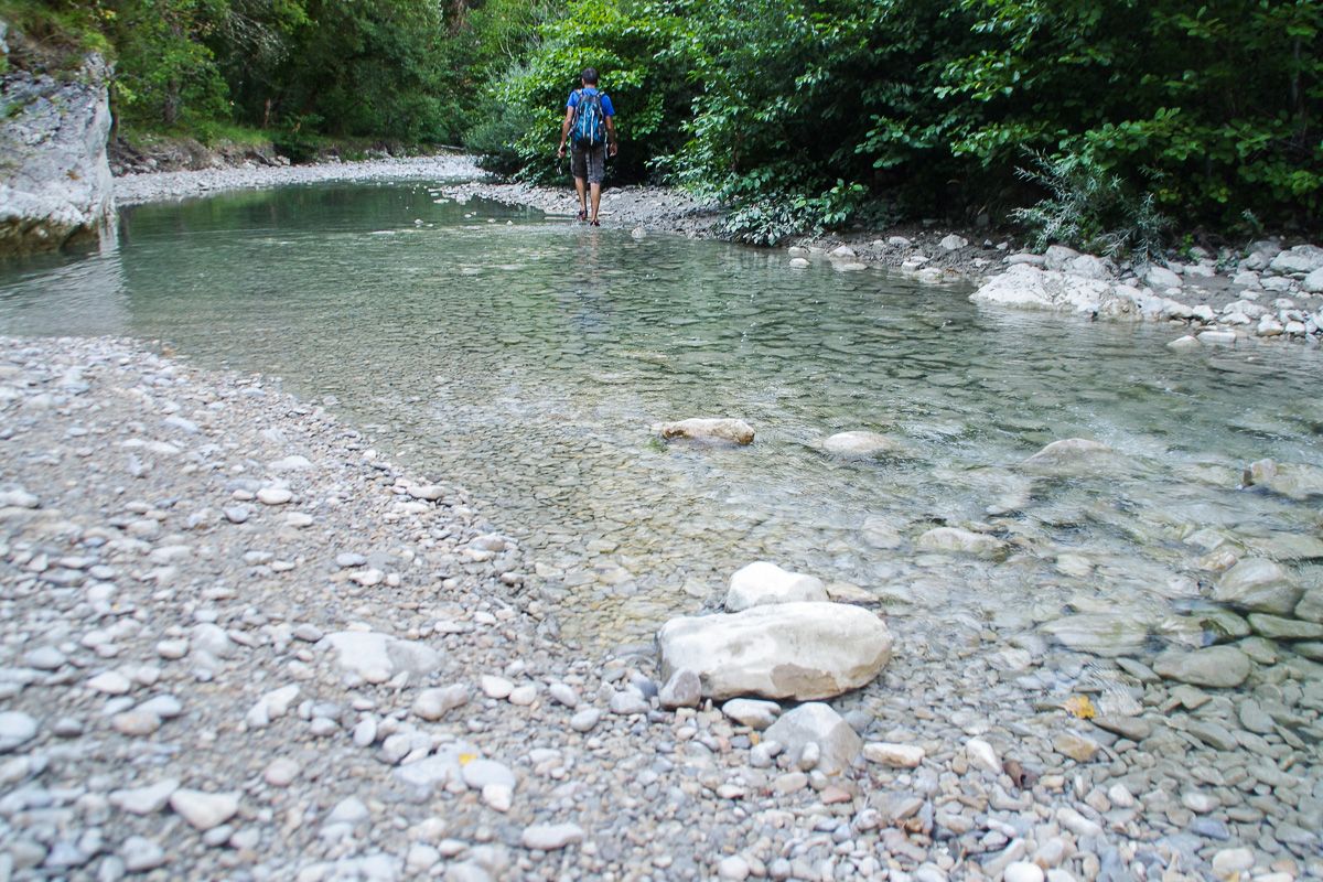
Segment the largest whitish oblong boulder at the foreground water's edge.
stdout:
[[688,668],[703,694],[830,698],[869,682],[892,657],[886,624],[841,603],[777,603],[679,618],[658,632],[662,678]]

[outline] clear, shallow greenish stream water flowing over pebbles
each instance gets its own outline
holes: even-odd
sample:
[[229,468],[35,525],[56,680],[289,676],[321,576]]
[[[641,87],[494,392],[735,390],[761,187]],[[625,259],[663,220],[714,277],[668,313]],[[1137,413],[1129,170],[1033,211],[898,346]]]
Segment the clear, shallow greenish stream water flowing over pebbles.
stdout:
[[[331,401],[397,460],[470,489],[533,551],[564,635],[589,644],[716,604],[755,559],[860,586],[912,633],[1121,610],[1154,647],[1207,639],[1185,615],[1213,578],[1196,566],[1205,528],[1320,581],[1287,549],[1319,537],[1316,500],[1238,489],[1252,460],[1323,460],[1315,349],[1176,356],[1171,328],[967,294],[421,185],[335,185],[139,206],[112,253],[5,264],[0,333],[167,340]],[[757,440],[667,447],[650,431],[695,415],[742,418]],[[815,447],[845,430],[906,454]],[[1017,468],[1070,436],[1121,463]],[[877,547],[878,525],[896,547]],[[1009,545],[918,551],[939,525]]]

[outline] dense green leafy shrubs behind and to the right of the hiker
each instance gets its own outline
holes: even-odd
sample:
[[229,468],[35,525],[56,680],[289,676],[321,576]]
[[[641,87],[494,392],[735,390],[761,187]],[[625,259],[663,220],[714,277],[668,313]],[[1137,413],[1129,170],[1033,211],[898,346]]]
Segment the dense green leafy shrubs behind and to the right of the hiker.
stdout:
[[1316,229],[1323,4],[1212,0],[574,0],[496,83],[500,163],[557,173],[557,99],[603,71],[639,169],[729,231],[1015,209],[1045,239]]

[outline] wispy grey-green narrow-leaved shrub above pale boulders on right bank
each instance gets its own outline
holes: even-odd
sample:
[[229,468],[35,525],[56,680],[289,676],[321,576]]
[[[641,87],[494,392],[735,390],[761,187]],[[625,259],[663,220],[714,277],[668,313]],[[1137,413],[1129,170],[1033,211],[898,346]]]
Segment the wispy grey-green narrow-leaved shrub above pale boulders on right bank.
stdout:
[[1132,193],[1118,175],[1085,156],[1032,159],[1035,168],[1020,168],[1017,175],[1048,190],[1048,197],[1011,216],[1029,229],[1039,250],[1060,243],[1144,263],[1162,257],[1170,221],[1158,212],[1152,193]]

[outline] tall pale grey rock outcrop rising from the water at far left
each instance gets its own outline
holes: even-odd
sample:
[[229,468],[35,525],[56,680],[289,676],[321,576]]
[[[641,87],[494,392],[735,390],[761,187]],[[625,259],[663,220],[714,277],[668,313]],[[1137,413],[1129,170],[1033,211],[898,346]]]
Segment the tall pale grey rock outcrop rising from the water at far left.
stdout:
[[70,79],[0,79],[0,257],[58,249],[111,222],[107,79],[95,54]]

